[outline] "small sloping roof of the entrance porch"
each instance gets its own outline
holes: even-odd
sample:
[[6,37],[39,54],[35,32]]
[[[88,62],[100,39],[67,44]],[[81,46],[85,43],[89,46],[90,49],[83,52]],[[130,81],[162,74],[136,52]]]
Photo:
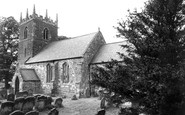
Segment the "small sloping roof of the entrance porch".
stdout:
[[20,69],[23,81],[40,81],[34,69]]

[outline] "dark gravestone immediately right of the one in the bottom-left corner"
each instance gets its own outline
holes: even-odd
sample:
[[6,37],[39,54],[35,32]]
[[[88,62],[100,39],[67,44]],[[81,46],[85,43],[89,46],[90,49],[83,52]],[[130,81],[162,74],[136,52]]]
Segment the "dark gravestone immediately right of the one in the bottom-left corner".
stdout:
[[16,98],[15,101],[14,101],[14,110],[22,110],[22,106],[23,106],[23,103],[24,103],[24,97],[19,97],[19,98]]

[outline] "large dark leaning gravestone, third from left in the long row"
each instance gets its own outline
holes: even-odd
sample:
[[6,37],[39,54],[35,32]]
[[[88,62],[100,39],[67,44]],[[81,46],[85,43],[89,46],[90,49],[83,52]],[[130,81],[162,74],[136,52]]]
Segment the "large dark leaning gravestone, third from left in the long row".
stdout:
[[24,113],[32,111],[34,106],[35,106],[35,97],[33,96],[26,97],[23,103],[22,111]]

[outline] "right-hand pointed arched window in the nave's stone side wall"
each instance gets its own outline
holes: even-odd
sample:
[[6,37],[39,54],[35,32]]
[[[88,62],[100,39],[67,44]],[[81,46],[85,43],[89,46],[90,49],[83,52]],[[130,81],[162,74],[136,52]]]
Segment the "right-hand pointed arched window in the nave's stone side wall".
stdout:
[[63,83],[69,82],[69,65],[65,62],[63,64]]

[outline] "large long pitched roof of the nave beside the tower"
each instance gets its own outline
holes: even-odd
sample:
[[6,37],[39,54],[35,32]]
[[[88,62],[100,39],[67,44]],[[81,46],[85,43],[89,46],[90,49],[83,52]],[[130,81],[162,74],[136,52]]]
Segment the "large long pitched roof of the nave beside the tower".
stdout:
[[83,57],[89,44],[98,33],[100,32],[52,42],[26,63]]

